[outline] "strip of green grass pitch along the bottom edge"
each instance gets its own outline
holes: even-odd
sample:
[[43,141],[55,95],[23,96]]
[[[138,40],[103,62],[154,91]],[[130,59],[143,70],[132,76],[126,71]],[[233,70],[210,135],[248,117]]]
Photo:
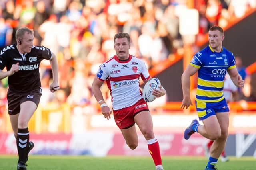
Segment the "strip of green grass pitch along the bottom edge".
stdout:
[[[204,170],[206,157],[164,156],[165,170]],[[148,157],[129,156],[52,156],[30,155],[28,170],[155,170]],[[0,155],[0,170],[16,170],[16,155]],[[218,162],[218,170],[256,170],[256,159],[252,157],[234,158],[229,162]]]

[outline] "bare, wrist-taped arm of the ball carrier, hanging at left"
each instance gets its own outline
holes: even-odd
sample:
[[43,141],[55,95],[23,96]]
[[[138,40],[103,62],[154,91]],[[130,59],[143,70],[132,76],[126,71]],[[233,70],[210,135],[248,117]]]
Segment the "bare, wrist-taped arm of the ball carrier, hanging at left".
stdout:
[[92,82],[92,94],[98,101],[101,106],[101,112],[105,118],[110,119],[111,109],[106,105],[100,87],[102,86],[104,81],[100,80],[97,76],[95,76]]

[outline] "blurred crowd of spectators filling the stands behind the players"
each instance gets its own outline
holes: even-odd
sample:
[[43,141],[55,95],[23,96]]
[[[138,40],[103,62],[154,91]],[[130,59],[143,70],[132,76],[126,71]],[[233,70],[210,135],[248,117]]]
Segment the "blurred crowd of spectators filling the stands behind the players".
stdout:
[[[91,114],[97,111],[92,80],[98,66],[115,54],[114,35],[129,33],[130,54],[150,69],[182,48],[179,15],[191,8],[189,2],[199,11],[198,39],[210,26],[224,27],[231,17],[256,7],[256,0],[1,0],[0,49],[16,42],[19,27],[34,29],[34,45],[44,45],[58,57],[61,88],[56,94],[48,90],[52,74],[49,62],[42,61],[40,105],[67,103]],[[1,81],[1,102],[6,102],[6,81]],[[107,86],[102,88],[110,104]]]

